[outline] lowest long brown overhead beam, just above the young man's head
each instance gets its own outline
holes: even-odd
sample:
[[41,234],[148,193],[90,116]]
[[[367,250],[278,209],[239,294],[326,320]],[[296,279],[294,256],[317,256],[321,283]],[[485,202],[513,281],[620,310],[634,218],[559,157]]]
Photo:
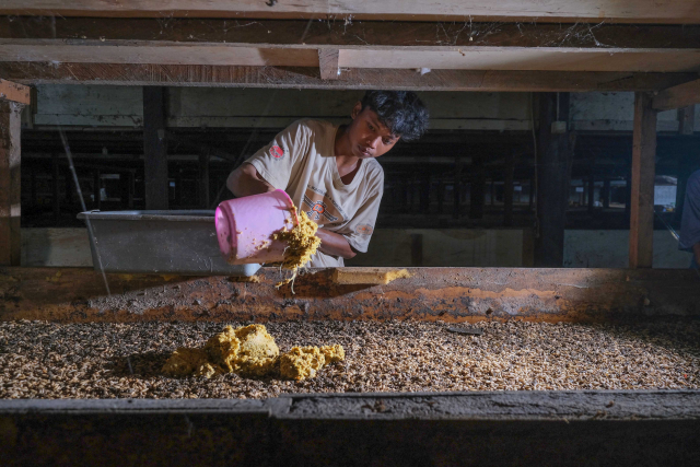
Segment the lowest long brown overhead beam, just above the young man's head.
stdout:
[[24,84],[185,85],[411,91],[657,91],[697,73],[354,69],[322,80],[311,68],[0,62],[0,74]]

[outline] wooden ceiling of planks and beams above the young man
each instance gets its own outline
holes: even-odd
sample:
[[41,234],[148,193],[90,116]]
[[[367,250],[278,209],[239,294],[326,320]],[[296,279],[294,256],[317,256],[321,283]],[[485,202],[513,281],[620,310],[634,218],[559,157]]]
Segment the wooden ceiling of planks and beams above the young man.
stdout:
[[0,77],[22,83],[648,91],[700,72],[688,0],[4,0],[0,14]]

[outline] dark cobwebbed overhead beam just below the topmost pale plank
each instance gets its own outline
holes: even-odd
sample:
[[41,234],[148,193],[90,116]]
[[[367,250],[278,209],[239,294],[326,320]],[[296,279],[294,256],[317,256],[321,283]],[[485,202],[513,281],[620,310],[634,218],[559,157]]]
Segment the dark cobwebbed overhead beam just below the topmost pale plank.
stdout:
[[[0,39],[73,46],[224,45],[317,49],[369,46],[698,49],[698,25],[542,24],[212,19],[89,19],[0,16]],[[37,42],[44,39],[44,42]],[[13,44],[13,43],[8,43]]]

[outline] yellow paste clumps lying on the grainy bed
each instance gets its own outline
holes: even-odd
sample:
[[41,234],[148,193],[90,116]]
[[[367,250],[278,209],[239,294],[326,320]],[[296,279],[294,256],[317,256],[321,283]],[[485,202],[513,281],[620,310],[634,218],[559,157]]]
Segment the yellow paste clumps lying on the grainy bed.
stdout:
[[265,376],[280,371],[282,377],[314,377],[325,365],[345,360],[342,346],[294,347],[280,357],[275,338],[262,325],[233,329],[226,326],[212,336],[201,349],[179,348],[163,365],[171,376],[211,377],[223,373]]

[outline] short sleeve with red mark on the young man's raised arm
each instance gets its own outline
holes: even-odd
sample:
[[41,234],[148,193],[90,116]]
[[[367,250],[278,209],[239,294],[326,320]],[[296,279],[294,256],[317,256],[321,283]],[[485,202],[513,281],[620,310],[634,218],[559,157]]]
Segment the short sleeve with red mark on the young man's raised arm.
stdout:
[[299,120],[280,131],[272,141],[260,148],[246,162],[277,189],[287,189],[299,162],[310,148],[311,130]]

